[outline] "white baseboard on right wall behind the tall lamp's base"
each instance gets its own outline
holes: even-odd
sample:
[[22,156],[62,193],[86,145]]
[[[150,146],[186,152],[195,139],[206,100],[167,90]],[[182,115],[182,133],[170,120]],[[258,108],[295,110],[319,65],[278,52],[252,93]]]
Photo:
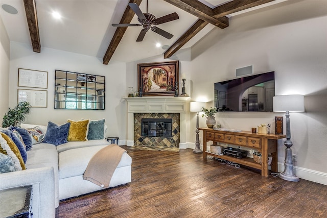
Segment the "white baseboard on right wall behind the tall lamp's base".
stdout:
[[[327,174],[319,171],[314,171],[312,169],[302,168],[298,166],[293,166],[294,174],[300,178],[309,180],[312,182],[317,182],[323,185],[327,185]],[[284,163],[278,162],[278,172],[284,171]]]

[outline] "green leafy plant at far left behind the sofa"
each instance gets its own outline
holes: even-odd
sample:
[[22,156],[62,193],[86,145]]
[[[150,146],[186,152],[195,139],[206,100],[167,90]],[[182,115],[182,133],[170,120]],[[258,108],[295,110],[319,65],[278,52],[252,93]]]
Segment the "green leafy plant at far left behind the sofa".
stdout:
[[14,109],[5,113],[2,121],[2,127],[17,126],[18,123],[24,122],[26,115],[30,113],[32,106],[28,102],[19,102]]

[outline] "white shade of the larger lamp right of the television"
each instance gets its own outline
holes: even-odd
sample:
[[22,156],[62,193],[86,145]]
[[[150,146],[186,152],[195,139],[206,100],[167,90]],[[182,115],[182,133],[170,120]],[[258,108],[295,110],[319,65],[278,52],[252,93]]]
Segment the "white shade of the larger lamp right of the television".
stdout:
[[305,111],[305,96],[300,94],[274,96],[273,111],[303,112]]

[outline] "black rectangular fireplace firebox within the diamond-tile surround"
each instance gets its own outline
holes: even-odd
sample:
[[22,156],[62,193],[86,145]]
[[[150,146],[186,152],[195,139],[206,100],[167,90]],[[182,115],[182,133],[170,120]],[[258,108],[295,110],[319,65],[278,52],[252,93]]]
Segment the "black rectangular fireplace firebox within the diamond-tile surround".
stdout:
[[172,137],[172,119],[142,118],[142,136]]

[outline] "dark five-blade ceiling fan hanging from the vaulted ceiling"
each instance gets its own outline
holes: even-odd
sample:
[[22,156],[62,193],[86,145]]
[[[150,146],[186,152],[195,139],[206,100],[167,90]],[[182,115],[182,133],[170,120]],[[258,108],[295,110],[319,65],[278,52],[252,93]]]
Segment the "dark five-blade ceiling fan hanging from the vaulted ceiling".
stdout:
[[143,29],[139,33],[136,41],[141,42],[145,36],[145,34],[148,32],[148,30],[152,30],[153,32],[164,36],[168,39],[173,38],[174,35],[166,32],[165,30],[162,30],[158,27],[152,27],[151,25],[159,25],[161,23],[169,22],[172,20],[178,19],[178,14],[176,12],[168,14],[166,16],[162,16],[159,18],[156,18],[153,14],[148,13],[148,1],[147,1],[147,13],[142,13],[141,9],[139,9],[138,5],[135,3],[128,3],[129,7],[135,12],[137,15],[137,20],[139,23],[119,23],[115,24],[113,23],[113,27],[139,27],[143,26]]

